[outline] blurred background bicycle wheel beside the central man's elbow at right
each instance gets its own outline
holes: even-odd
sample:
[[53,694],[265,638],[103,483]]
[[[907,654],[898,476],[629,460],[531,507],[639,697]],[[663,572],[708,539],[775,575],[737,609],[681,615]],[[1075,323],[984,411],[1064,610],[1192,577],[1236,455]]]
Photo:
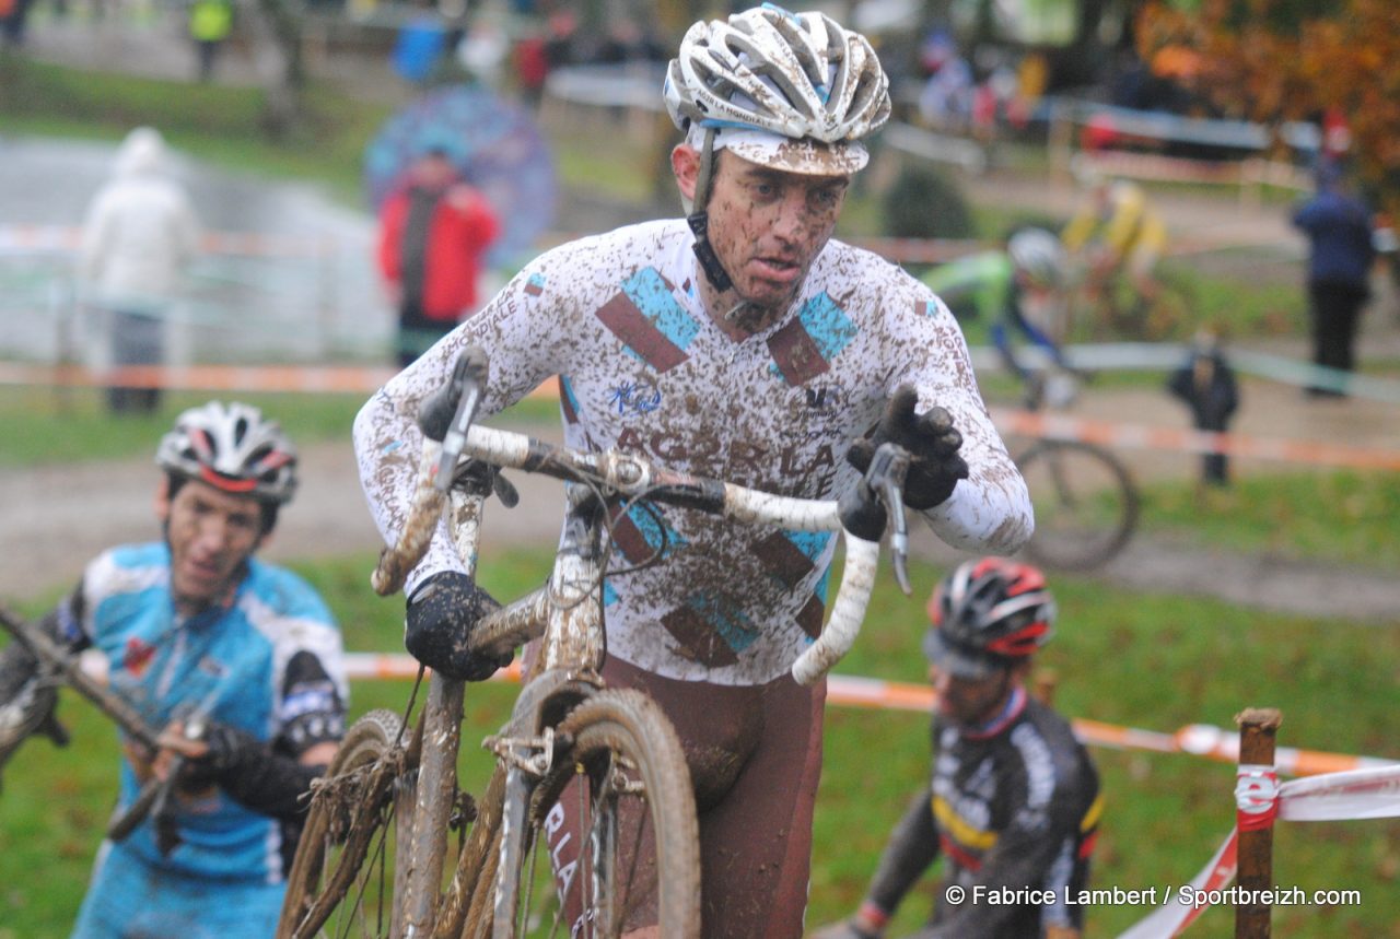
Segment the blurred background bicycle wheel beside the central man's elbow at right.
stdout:
[[1043,439],[1018,459],[1036,532],[1025,554],[1047,568],[1086,571],[1123,550],[1137,528],[1138,494],[1116,456],[1092,444]]

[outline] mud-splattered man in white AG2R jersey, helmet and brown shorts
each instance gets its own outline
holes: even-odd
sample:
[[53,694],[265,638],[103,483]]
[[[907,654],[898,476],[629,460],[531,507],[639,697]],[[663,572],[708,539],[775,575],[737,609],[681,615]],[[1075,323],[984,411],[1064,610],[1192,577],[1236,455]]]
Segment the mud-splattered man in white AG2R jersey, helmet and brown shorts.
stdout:
[[[904,501],[945,542],[1016,550],[1032,528],[1025,483],[956,322],[913,277],[832,239],[868,160],[861,139],[889,116],[868,41],[770,4],[701,21],[664,97],[685,133],[671,161],[689,217],[545,253],[361,410],[356,448],[385,539],[417,479],[419,403],[475,344],[490,357],[484,414],[557,374],[570,446],[822,500],[893,439],[913,455]],[[620,515],[613,540],[613,567],[633,570],[606,582],[603,679],[644,689],[686,747],[706,935],[798,936],[825,689],[787,670],[819,628],[836,540],[657,507]],[[449,676],[490,675],[497,662],[462,649],[491,602],[445,532],[406,592],[410,652]],[[566,854],[580,841],[563,845],[567,833]]]

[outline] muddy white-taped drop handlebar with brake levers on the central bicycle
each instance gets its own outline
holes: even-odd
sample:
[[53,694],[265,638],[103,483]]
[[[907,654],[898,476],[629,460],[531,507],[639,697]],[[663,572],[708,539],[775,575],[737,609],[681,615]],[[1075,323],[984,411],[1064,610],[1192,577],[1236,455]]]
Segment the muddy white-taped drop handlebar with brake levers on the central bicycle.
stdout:
[[[476,351],[479,353],[479,350]],[[462,404],[455,410],[449,430],[444,432],[445,444],[438,444],[431,434],[426,432],[419,465],[419,484],[409,518],[393,547],[385,549],[381,554],[371,577],[378,593],[388,595],[399,591],[407,572],[423,560],[445,502],[445,487],[440,488],[444,467],[454,466],[459,456],[469,456],[501,469],[542,473],[567,481],[588,481],[623,498],[647,498],[738,522],[808,532],[840,530],[846,543],[841,584],[822,634],[792,663],[792,677],[799,684],[813,684],[850,651],[860,633],[875,585],[879,542],[865,540],[846,530],[841,526],[834,500],[776,495],[735,483],[666,470],[631,453],[575,451],[525,434],[475,425],[470,424],[470,416],[466,421],[461,421],[463,411],[468,407],[475,411],[476,402],[480,399],[480,386],[472,389],[473,378],[461,379],[466,374],[482,376],[486,371],[484,355],[469,350],[463,353],[463,360],[468,360],[469,355],[469,364],[463,367],[459,361],[449,382],[449,386],[461,386],[465,393]],[[441,392],[430,400],[434,402],[431,413],[441,414]],[[428,414],[430,409],[426,406],[423,413]],[[458,431],[461,431],[459,437]],[[893,446],[892,449],[897,451]],[[899,453],[903,452],[899,451]],[[882,500],[890,500],[890,493],[893,493],[893,504],[888,504],[886,508],[890,518],[896,521],[893,539],[893,549],[897,553],[896,575],[900,579],[900,586],[907,592],[907,577],[903,565],[907,539],[903,529],[903,504],[899,500],[899,484],[903,481],[904,469],[907,469],[907,455],[872,460],[871,473],[865,479],[865,490],[869,497]],[[889,479],[890,473],[897,473],[893,483]],[[451,469],[447,470],[445,477],[451,479]],[[503,621],[522,623],[528,620],[529,613],[540,609],[540,602],[538,595],[529,595],[496,614],[484,617],[482,628],[473,633],[473,648],[484,649],[493,645],[498,648],[511,638],[508,627],[500,628]]]

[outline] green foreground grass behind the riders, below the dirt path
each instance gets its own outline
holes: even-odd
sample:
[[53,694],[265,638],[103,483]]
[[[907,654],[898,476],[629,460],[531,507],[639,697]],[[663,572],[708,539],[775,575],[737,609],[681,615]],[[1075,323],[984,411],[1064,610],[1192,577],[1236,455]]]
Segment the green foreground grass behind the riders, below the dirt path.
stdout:
[[[367,593],[371,563],[365,554],[298,570],[328,598],[349,648],[395,651],[402,605]],[[539,584],[546,564],[539,551],[511,553],[484,563],[482,578],[498,596],[510,596]],[[920,593],[939,574],[923,564],[911,570]],[[1400,680],[1400,634],[1393,630],[1128,593],[1072,578],[1058,578],[1054,589],[1060,631],[1040,665],[1058,676],[1056,700],[1067,715],[1172,732],[1193,722],[1231,728],[1246,707],[1278,707],[1282,746],[1400,758],[1393,694],[1385,691]],[[921,596],[904,598],[882,574],[865,631],[840,672],[923,680],[923,628]],[[353,711],[402,709],[407,690],[403,682],[357,683]],[[479,740],[504,721],[512,694],[510,687],[473,687],[465,740]],[[66,935],[112,799],[111,730],[77,701],[64,700],[62,714],[73,722],[74,746],[56,751],[34,742],[7,767],[0,793],[0,842],[7,845],[0,852],[0,936]],[[825,746],[811,925],[839,918],[860,901],[889,827],[925,784],[927,716],[832,705]],[[483,758],[466,749],[466,778],[482,781]],[[1144,889],[1194,876],[1233,821],[1233,770],[1189,756],[1103,749],[1093,756],[1107,799],[1093,884]],[[1358,889],[1364,901],[1334,910],[1280,908],[1275,935],[1400,935],[1390,901],[1397,870],[1396,821],[1281,824],[1278,884]],[[909,898],[893,935],[918,925],[925,894]],[[1117,935],[1145,912],[1091,908],[1086,935]],[[1231,922],[1229,911],[1217,910],[1196,932],[1226,935]]]

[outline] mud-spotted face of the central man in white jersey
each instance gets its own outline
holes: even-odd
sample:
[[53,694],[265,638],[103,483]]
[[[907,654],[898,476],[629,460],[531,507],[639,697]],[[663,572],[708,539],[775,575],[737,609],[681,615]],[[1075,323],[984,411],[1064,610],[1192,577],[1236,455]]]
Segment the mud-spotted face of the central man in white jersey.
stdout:
[[715,154],[710,243],[739,297],[781,311],[832,236],[850,175],[811,176]]

